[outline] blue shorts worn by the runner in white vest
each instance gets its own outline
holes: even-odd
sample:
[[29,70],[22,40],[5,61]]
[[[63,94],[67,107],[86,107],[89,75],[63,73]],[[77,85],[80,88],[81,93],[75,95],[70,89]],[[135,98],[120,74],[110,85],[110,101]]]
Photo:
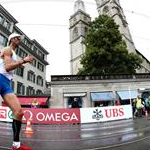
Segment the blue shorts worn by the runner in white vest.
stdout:
[[4,75],[0,74],[0,95],[3,97],[5,94],[14,93],[11,88],[10,80]]

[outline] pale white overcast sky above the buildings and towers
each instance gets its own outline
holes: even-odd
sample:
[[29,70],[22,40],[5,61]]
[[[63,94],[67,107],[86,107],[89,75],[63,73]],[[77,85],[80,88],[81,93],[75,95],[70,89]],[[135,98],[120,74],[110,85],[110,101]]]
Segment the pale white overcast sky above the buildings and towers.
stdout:
[[[92,20],[98,16],[95,0],[83,0]],[[69,18],[75,0],[0,0],[30,39],[48,52],[46,79],[70,74]],[[150,61],[150,0],[120,0],[136,49]]]

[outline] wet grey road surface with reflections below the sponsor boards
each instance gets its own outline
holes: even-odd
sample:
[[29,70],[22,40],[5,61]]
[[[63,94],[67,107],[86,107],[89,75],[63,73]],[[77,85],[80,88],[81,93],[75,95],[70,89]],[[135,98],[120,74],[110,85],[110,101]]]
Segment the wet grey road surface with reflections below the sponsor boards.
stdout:
[[[34,150],[143,150],[150,147],[150,120],[145,118],[76,125],[32,125],[21,141]],[[10,149],[11,123],[0,122],[0,150]]]

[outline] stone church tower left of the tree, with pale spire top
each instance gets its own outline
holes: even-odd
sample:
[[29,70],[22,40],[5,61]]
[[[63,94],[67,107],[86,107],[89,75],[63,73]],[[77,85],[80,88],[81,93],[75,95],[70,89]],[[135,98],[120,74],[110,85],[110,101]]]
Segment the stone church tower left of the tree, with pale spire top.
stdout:
[[81,68],[80,60],[85,53],[83,41],[88,31],[91,17],[85,11],[82,0],[77,0],[74,4],[74,14],[70,17],[70,67],[71,74],[75,75]]

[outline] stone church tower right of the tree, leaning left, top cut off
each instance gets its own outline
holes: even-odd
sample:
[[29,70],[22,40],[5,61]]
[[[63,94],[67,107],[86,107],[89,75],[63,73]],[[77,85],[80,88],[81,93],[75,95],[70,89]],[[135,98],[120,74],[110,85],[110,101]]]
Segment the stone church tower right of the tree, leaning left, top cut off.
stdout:
[[122,34],[122,37],[126,42],[127,49],[129,50],[129,52],[139,54],[142,57],[143,59],[142,68],[137,70],[137,73],[150,72],[150,62],[135,48],[126,17],[120,5],[120,1],[119,0],[95,0],[95,1],[97,4],[97,10],[99,15],[107,14],[115,20],[116,24],[119,25],[120,33]]

